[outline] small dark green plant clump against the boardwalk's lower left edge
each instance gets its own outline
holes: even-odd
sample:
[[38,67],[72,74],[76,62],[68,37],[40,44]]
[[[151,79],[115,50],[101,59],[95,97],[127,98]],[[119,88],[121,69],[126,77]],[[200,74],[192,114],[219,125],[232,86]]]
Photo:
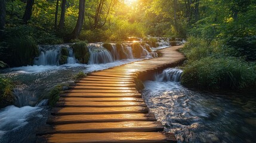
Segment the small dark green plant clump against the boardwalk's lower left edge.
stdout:
[[49,92],[47,98],[48,98],[48,105],[53,107],[56,102],[60,99],[60,94],[62,91],[62,85],[57,85],[51,91]]

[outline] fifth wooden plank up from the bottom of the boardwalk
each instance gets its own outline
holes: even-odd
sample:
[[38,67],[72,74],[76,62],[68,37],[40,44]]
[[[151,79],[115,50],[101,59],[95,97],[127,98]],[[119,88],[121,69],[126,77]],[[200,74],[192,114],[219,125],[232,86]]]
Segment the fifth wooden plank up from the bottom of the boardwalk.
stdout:
[[97,102],[97,101],[62,101],[57,102],[56,107],[146,107],[147,105],[144,102]]

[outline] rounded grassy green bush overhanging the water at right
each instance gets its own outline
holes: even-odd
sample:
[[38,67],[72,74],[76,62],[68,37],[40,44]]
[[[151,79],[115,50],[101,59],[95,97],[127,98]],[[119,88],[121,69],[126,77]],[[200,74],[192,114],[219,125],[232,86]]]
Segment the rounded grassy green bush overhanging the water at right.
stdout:
[[254,86],[256,70],[235,57],[202,58],[184,67],[181,83],[199,89],[242,89]]

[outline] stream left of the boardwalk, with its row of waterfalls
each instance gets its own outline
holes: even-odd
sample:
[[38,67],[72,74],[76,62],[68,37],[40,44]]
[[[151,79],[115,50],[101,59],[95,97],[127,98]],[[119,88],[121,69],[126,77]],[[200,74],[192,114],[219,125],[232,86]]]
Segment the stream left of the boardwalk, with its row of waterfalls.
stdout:
[[[16,85],[14,105],[0,109],[0,142],[35,142],[36,129],[45,125],[50,114],[47,100],[42,100],[42,97],[55,85],[72,83],[72,76],[79,71],[90,73],[152,58],[152,54],[147,52],[148,55],[143,58],[134,59],[131,46],[125,46],[123,49],[126,57],[121,59],[117,53],[110,52],[101,45],[102,43],[88,45],[91,54],[89,64],[79,64],[70,45],[41,45],[41,54],[35,58],[33,66],[0,70],[2,76],[10,77]],[[58,57],[63,47],[67,48],[69,55],[67,64],[60,65]],[[113,48],[116,47],[113,45]]]

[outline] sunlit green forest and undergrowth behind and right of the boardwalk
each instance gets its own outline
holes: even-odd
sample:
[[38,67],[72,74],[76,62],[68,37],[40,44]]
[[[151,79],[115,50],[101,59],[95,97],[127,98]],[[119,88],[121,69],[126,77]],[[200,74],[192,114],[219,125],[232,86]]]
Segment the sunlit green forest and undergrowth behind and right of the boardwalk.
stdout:
[[[26,66],[36,45],[185,38],[181,83],[244,89],[256,81],[255,0],[1,0],[0,66]],[[2,78],[2,77],[1,77]]]

